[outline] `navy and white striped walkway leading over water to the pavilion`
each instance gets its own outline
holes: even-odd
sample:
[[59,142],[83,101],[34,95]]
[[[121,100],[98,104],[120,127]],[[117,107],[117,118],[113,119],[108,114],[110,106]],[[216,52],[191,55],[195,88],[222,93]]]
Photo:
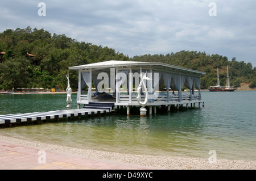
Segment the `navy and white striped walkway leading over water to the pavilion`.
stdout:
[[32,113],[16,113],[8,115],[0,115],[0,124],[22,123],[26,121],[39,121],[47,119],[59,119],[61,117],[73,117],[82,115],[93,115],[100,113],[108,113],[113,111],[113,106],[109,105],[86,105],[84,108],[76,110],[48,111],[48,112],[32,112]]

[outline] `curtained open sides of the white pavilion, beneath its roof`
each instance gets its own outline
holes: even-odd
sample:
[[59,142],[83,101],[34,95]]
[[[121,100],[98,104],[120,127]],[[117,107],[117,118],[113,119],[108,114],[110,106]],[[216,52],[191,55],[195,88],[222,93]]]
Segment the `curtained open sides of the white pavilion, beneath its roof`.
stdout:
[[[141,74],[146,73],[152,79],[146,81],[149,104],[201,100],[200,77],[139,68],[132,72],[128,69],[111,71],[110,68],[92,70],[92,79],[89,71],[81,71],[81,87],[77,95],[90,102],[136,103]],[[142,89],[142,98],[144,94]]]

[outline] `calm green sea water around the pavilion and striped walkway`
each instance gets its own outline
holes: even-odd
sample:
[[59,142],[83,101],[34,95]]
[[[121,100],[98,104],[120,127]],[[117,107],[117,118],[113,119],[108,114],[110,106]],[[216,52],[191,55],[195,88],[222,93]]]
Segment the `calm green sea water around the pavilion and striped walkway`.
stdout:
[[[73,117],[0,128],[32,141],[118,153],[256,160],[256,91],[202,92],[205,107],[157,115]],[[0,95],[0,114],[65,110],[65,94]],[[76,106],[76,94],[72,94]]]

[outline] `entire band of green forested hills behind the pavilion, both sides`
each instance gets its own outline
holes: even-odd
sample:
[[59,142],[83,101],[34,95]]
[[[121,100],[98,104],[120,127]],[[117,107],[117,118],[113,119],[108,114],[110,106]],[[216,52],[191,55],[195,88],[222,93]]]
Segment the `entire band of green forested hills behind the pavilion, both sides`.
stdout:
[[217,68],[220,83],[225,86],[226,66],[229,66],[230,85],[240,86],[241,82],[255,87],[256,68],[250,63],[237,61],[218,54],[182,50],[170,54],[145,54],[129,57],[115,52],[113,48],[76,41],[65,35],[56,35],[46,30],[6,30],[0,33],[0,89],[13,87],[43,87],[65,90],[69,79],[73,90],[77,89],[77,71],[69,66],[91,64],[108,60],[164,62],[189,69],[205,71],[201,78],[202,89],[216,85]]

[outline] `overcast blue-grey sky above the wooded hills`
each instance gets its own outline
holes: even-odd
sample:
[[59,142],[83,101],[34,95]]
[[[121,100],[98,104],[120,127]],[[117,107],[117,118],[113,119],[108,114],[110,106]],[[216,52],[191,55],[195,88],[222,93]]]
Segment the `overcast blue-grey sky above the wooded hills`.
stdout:
[[0,32],[30,26],[129,57],[193,50],[256,66],[255,0],[10,0],[0,9]]

